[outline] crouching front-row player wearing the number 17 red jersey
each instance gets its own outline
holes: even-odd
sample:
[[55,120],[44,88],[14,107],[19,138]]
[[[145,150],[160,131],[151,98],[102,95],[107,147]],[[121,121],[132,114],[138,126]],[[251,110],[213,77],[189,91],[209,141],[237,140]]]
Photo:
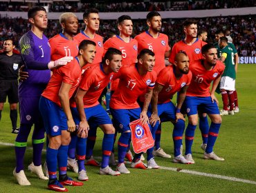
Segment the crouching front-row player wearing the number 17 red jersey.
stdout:
[[[129,123],[136,119],[142,119],[146,124],[147,108],[152,98],[152,89],[156,81],[156,72],[153,71],[155,64],[154,52],[148,49],[140,51],[138,63],[122,67],[115,78],[120,79],[118,89],[113,93],[110,100],[110,110],[121,136],[118,140],[118,167],[120,173],[129,174],[125,167],[124,159],[127,153],[131,130]],[[138,96],[145,94],[143,110],[140,109],[137,99]],[[146,169],[142,161],[141,154],[135,154],[131,167]]]

